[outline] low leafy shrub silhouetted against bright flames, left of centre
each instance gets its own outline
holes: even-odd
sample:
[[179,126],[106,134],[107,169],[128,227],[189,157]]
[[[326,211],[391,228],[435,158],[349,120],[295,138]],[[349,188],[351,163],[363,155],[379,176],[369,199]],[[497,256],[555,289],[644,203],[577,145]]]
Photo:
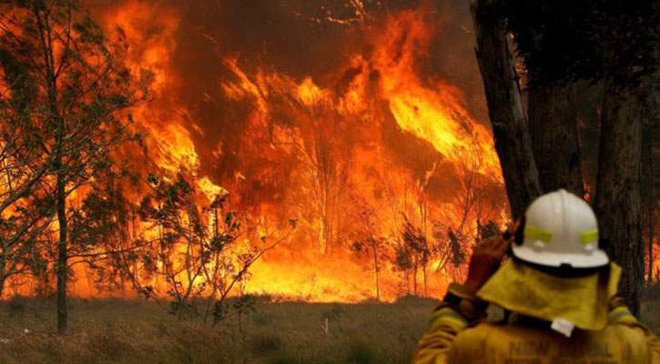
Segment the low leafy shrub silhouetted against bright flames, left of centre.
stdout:
[[140,203],[139,215],[157,230],[157,258],[150,258],[157,263],[151,268],[165,280],[170,312],[198,315],[201,298],[204,320],[212,315],[216,324],[228,314],[229,294],[249,279],[250,266],[287,240],[296,223],[289,221],[286,234],[271,238],[262,225],[250,226],[245,217],[226,210],[226,191],[199,207],[205,197],[181,174],[173,181],[151,176],[148,182],[153,193]]

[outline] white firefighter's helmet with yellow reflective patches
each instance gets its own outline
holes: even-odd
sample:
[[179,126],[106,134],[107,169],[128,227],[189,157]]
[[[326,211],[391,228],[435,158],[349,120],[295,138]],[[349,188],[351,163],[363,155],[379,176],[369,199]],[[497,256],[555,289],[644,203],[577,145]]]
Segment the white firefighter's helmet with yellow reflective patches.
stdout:
[[594,210],[564,189],[536,198],[525,212],[523,243],[513,255],[548,267],[595,268],[609,263],[598,248]]

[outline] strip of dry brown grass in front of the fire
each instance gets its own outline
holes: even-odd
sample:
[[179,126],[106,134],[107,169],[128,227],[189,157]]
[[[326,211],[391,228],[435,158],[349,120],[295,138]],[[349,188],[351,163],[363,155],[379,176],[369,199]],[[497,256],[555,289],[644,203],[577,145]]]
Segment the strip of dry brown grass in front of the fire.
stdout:
[[[649,302],[643,319],[658,332],[660,301]],[[407,363],[436,304],[260,303],[241,329],[211,329],[154,303],[72,300],[61,338],[53,299],[15,299],[0,303],[0,363]]]

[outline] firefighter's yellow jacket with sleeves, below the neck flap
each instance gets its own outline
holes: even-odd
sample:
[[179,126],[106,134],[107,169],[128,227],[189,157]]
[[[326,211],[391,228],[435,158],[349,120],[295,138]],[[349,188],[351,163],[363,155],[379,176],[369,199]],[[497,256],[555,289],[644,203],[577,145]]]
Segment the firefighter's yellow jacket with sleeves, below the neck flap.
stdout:
[[436,309],[414,364],[660,364],[660,341],[627,308],[609,312],[601,330],[576,329],[570,339],[537,319],[470,326],[451,305]]

